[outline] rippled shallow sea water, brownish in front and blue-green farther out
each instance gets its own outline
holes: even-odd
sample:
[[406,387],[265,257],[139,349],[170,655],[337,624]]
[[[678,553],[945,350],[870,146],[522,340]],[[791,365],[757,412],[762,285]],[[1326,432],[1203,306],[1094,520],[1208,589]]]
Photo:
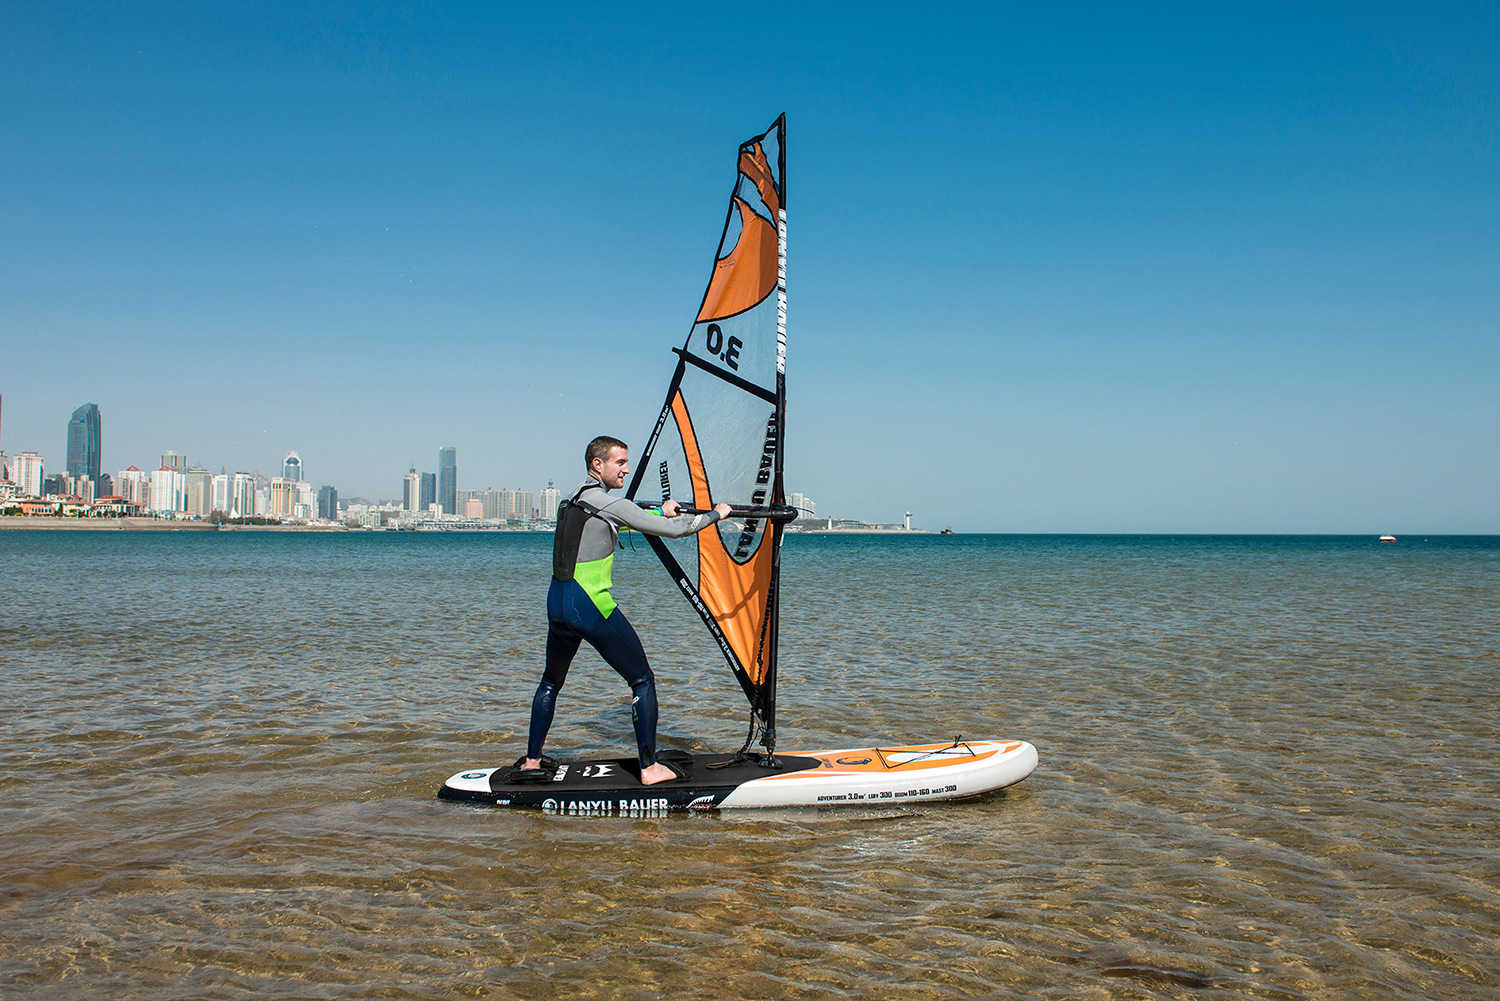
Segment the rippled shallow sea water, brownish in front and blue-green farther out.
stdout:
[[[792,537],[782,747],[903,809],[434,800],[524,750],[550,539],[0,533],[0,993],[1494,998],[1500,540]],[[662,743],[746,708],[651,552]],[[550,750],[628,753],[591,651]]]

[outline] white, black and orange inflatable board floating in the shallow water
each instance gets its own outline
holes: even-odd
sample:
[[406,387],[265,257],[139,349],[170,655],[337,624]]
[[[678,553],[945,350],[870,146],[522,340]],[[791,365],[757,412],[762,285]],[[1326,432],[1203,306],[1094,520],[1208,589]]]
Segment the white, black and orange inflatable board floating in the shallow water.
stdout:
[[[686,779],[640,785],[634,759],[562,762],[544,780],[507,782],[512,768],[459,771],[438,798],[548,813],[657,815],[765,806],[892,806],[962,800],[1020,782],[1036,767],[1024,740],[958,740],[908,747],[843,747],[777,755],[780,768],[732,755],[666,752]],[[716,767],[717,765],[717,767]]]

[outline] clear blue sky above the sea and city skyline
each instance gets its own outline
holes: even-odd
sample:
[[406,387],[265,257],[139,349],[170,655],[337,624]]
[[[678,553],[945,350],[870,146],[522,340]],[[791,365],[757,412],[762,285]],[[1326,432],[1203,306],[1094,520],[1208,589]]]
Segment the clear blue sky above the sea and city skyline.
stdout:
[[573,482],[786,111],[820,513],[1500,531],[1500,6],[808,6],[6,5],[0,447]]

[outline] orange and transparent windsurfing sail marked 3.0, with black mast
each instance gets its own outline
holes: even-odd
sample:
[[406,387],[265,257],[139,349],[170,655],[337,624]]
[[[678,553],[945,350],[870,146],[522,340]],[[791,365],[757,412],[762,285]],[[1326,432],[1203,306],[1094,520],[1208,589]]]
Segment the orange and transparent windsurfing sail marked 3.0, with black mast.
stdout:
[[[740,146],[708,287],[628,497],[735,513],[684,540],[651,537],[776,741],[777,588],[786,432],[786,116]],[[748,744],[748,741],[747,741]]]

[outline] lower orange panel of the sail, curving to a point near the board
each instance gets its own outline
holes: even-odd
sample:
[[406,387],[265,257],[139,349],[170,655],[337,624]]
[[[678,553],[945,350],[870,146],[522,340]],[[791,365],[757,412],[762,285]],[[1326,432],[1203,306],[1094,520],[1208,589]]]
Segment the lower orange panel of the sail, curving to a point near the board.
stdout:
[[[693,432],[682,390],[672,395],[672,416],[682,435],[687,470],[693,479],[693,507],[712,507],[708,473],[704,470],[704,456],[698,449],[698,435]],[[771,590],[771,546],[762,540],[750,561],[740,564],[724,549],[717,528],[698,533],[698,593],[740,657],[740,665],[756,684],[765,681],[765,665],[756,663],[756,651],[760,648],[765,597]]]

